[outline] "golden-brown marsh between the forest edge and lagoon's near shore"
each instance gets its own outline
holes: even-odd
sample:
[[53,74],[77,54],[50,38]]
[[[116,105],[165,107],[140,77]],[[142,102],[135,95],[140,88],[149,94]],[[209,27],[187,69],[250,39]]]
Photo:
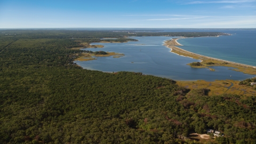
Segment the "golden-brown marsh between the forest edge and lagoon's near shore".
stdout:
[[179,86],[184,86],[187,89],[210,89],[209,95],[219,95],[223,93],[238,94],[245,96],[256,95],[256,91],[250,86],[238,85],[239,81],[233,80],[216,80],[214,82],[198,81],[177,81]]

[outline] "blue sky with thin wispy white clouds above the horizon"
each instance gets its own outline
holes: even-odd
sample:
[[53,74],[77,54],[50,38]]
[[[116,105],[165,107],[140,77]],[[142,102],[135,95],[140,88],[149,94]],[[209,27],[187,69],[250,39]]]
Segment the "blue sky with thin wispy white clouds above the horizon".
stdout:
[[256,28],[256,0],[0,0],[0,28]]

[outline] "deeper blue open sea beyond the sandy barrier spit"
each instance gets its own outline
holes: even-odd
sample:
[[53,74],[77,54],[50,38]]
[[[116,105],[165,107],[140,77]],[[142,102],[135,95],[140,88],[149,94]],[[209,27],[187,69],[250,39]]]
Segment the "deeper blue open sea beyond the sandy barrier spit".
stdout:
[[231,36],[178,39],[181,49],[208,57],[256,66],[256,30],[226,30]]

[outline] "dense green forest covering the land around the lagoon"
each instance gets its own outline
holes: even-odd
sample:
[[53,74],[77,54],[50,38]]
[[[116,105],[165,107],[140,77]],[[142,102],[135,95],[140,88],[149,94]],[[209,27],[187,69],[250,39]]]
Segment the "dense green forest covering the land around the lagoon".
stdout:
[[[70,49],[105,37],[220,34],[0,30],[0,143],[256,143],[255,96],[82,69],[73,63],[82,51]],[[206,129],[225,135],[188,139]]]

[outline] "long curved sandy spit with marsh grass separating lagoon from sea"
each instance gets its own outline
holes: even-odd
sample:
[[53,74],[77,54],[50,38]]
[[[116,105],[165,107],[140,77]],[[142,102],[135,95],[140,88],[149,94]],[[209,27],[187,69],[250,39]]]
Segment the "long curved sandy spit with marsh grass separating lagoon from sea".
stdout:
[[[184,37],[182,37],[182,38],[184,38]],[[256,66],[250,66],[250,65],[245,65],[242,63],[207,57],[205,55],[201,55],[201,54],[183,50],[180,47],[177,47],[177,46],[182,46],[180,43],[177,42],[178,39],[180,39],[180,38],[173,38],[169,41],[165,41],[164,45],[166,47],[170,48],[171,52],[173,52],[175,54],[182,55],[184,57],[201,60],[201,63],[204,62],[204,63],[202,63],[203,66],[196,66],[196,67],[193,66],[195,68],[209,68],[211,66],[226,66],[226,67],[237,68],[237,69],[233,69],[233,70],[242,71],[243,73],[246,73],[246,74],[252,74],[252,75],[256,74]],[[207,65],[207,61],[214,61],[214,65]],[[223,62],[223,63],[219,63],[219,62]],[[189,64],[190,63],[188,63],[188,65]],[[245,70],[244,68],[247,68],[249,70]],[[211,68],[209,68],[209,69],[211,70]]]

